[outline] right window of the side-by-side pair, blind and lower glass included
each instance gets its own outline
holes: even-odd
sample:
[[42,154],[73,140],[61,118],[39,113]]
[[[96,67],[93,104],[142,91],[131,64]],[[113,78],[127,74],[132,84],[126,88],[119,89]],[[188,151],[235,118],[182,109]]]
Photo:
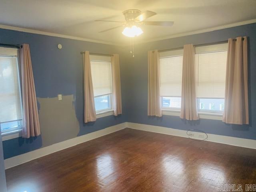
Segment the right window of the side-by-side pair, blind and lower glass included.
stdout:
[[196,97],[199,112],[223,113],[227,44],[196,47]]

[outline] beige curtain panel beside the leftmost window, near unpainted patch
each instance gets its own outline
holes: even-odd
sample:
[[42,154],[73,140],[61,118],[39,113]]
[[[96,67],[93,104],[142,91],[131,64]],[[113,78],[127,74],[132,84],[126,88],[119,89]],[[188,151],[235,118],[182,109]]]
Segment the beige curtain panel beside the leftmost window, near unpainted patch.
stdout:
[[36,102],[36,90],[30,49],[28,44],[20,48],[21,84],[22,84],[22,137],[30,138],[40,135],[40,124]]

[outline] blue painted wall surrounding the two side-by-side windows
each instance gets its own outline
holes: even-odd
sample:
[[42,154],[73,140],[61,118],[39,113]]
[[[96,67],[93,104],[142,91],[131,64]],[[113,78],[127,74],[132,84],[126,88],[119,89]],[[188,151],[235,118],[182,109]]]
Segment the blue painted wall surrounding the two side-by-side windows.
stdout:
[[[148,98],[148,50],[164,50],[182,47],[184,44],[204,44],[219,42],[236,38],[237,36],[248,36],[248,69],[249,69],[249,113],[250,125],[231,125],[219,120],[201,119],[195,122],[181,120],[178,116],[166,116],[162,118],[147,116]],[[126,52],[129,53],[129,47]],[[129,76],[129,84],[126,89],[129,95],[126,96],[126,110],[128,121],[168,128],[187,130],[196,128],[210,134],[233,136],[256,140],[256,23],[203,34],[172,38],[156,42],[138,44],[134,47],[135,57],[130,57],[126,65]]]

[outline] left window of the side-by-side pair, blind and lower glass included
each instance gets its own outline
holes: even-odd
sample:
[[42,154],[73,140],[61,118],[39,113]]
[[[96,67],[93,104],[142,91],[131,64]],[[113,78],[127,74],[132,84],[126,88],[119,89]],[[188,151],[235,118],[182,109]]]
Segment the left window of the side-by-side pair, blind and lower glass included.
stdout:
[[160,96],[164,109],[181,107],[182,54],[183,50],[160,53]]

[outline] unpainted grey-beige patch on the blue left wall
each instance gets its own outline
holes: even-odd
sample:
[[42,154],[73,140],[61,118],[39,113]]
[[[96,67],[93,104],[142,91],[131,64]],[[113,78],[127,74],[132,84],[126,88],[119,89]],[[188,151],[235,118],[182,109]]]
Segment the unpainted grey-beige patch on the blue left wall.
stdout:
[[58,100],[58,97],[37,99],[43,146],[77,136],[80,126],[73,106],[73,95],[62,96],[62,100]]

